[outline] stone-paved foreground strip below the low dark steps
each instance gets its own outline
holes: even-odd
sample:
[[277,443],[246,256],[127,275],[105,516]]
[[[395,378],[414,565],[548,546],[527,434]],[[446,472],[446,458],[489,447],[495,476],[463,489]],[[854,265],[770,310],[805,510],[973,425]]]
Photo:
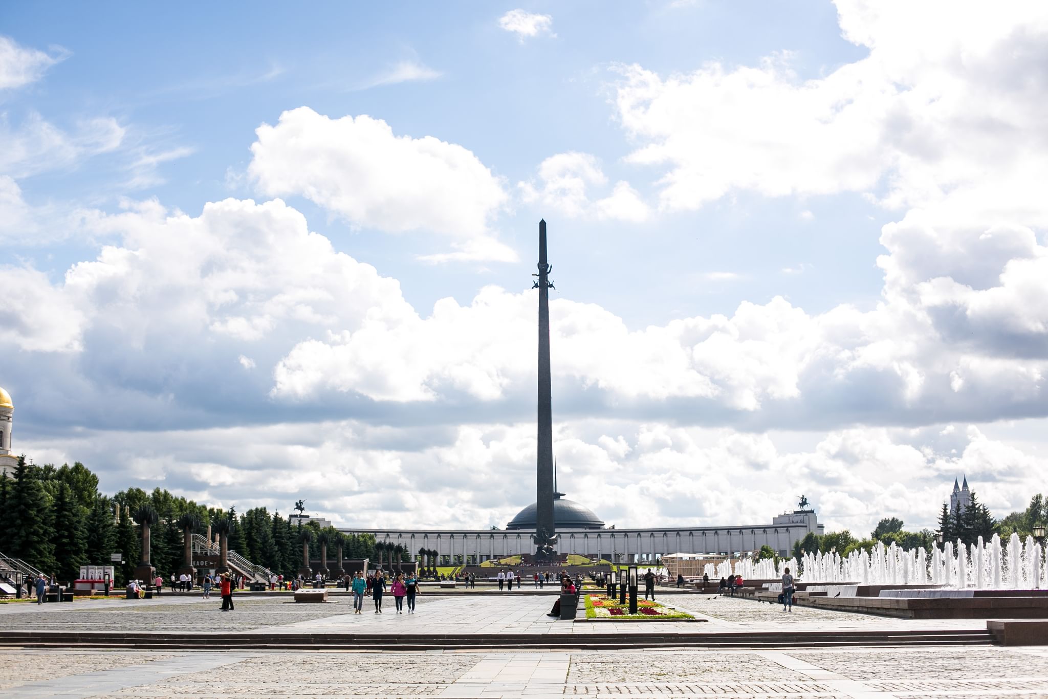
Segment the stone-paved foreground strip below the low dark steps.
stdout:
[[[936,658],[930,669],[922,663]],[[115,667],[114,662],[119,665]],[[0,652],[4,697],[665,697],[929,699],[1048,696],[1048,650],[645,653]],[[68,673],[31,679],[25,669]],[[942,668],[964,675],[929,676]],[[1024,669],[1025,674],[1012,674]]]

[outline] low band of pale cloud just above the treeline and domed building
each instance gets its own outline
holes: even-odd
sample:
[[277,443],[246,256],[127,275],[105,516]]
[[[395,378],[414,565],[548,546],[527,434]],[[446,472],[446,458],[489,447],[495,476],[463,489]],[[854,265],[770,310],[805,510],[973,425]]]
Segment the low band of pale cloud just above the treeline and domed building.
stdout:
[[[1034,425],[1031,425],[1034,427]],[[828,530],[856,536],[881,517],[911,528],[934,526],[953,478],[966,474],[980,499],[1002,516],[1025,506],[1048,467],[975,425],[937,440],[861,428],[783,435],[674,428],[643,421],[568,420],[554,424],[558,486],[608,524],[665,526],[764,524],[811,500]],[[420,527],[504,526],[531,502],[534,425],[470,422],[415,438],[415,428],[356,420],[224,429],[96,432],[23,441],[29,455],[61,463],[112,464],[102,487],[140,480],[238,509],[286,511],[306,498],[344,526],[381,526],[408,517]],[[617,435],[611,438],[608,434]],[[957,454],[951,446],[959,447]],[[299,475],[287,479],[288,469]],[[781,487],[783,478],[789,488]],[[901,485],[904,483],[905,485]],[[725,520],[724,512],[733,512]]]

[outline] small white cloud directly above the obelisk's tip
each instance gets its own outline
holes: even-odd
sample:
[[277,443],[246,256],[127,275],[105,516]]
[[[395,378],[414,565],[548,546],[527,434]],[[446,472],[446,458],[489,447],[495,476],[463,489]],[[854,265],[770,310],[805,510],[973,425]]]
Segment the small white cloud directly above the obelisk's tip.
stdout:
[[611,193],[592,200],[591,187],[604,188],[608,178],[595,156],[588,153],[558,153],[539,166],[537,187],[533,182],[519,182],[524,201],[540,202],[572,218],[593,220],[623,220],[641,222],[650,211],[640,195],[629,182],[615,182]]

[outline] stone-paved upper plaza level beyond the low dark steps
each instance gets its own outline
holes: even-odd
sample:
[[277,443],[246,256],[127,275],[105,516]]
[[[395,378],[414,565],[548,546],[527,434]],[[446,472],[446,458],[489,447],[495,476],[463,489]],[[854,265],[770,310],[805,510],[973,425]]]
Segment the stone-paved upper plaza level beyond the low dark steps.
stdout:
[[416,614],[396,614],[387,595],[383,614],[373,613],[370,599],[365,613],[353,614],[350,597],[334,597],[318,605],[294,604],[286,597],[244,597],[236,610],[221,612],[220,600],[194,597],[168,599],[81,600],[72,604],[2,605],[3,631],[112,631],[170,632],[222,631],[271,633],[406,633],[406,634],[703,634],[726,631],[985,631],[973,619],[913,620],[851,612],[799,608],[792,613],[779,606],[716,595],[665,594],[665,602],[706,619],[706,624],[671,621],[561,621],[546,616],[552,602],[533,595],[438,597],[419,595]]

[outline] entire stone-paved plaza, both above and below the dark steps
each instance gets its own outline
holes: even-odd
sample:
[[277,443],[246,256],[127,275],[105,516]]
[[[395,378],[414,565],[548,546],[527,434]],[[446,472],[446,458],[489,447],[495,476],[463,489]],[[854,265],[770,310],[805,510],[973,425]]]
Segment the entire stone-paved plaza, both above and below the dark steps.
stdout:
[[[136,650],[0,651],[4,697],[1048,697],[1048,648],[943,646],[784,650],[646,650],[402,652],[366,634],[586,634],[599,627],[624,635],[653,628],[703,634],[799,628],[979,629],[978,620],[915,621],[846,612],[781,608],[700,595],[661,599],[701,622],[585,624],[545,616],[552,596],[419,598],[418,613],[354,615],[345,597],[326,605],[286,597],[243,598],[235,612],[189,597],[72,605],[2,605],[0,633],[15,630],[211,631],[286,634],[355,632],[356,648],[330,651],[148,652]],[[392,600],[390,600],[392,602]],[[384,605],[385,607],[385,605]]]

